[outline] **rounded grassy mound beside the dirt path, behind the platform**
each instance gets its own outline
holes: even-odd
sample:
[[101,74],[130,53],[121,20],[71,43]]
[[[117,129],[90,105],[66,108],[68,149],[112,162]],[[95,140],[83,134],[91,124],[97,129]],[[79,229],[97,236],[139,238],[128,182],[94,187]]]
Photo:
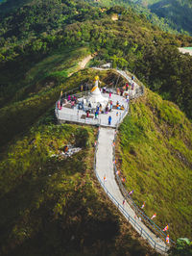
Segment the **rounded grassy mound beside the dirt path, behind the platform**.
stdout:
[[64,48],[35,64],[25,74],[22,89],[17,90],[12,102],[26,99],[57,87],[69,74],[78,70],[79,63],[89,55],[88,48]]

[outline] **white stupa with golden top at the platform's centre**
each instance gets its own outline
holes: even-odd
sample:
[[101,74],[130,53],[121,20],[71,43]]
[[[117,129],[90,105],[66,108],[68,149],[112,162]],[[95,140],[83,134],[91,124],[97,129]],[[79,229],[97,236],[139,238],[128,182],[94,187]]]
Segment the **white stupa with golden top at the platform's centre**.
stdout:
[[91,108],[96,108],[97,106],[102,105],[102,108],[106,108],[108,104],[108,97],[102,96],[101,91],[99,90],[99,76],[95,77],[94,87],[92,88],[90,95],[87,97],[86,102],[87,105]]

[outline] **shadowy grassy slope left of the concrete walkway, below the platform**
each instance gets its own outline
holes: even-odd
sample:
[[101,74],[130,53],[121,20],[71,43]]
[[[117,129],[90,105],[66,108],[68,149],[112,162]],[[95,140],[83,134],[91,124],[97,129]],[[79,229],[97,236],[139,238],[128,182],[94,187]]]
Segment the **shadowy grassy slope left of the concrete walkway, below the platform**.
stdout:
[[[1,255],[154,255],[95,179],[95,132],[43,119],[4,153]],[[82,151],[51,157],[67,143]]]

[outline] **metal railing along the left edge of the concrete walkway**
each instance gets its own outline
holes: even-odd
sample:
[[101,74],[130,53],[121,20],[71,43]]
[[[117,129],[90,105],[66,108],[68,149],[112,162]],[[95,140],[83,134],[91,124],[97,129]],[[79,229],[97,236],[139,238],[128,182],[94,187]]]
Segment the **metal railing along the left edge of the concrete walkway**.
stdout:
[[110,200],[117,206],[117,208],[119,209],[119,211],[129,220],[129,222],[132,223],[132,225],[134,226],[134,228],[136,229],[136,231],[142,236],[144,237],[148,243],[150,243],[152,245],[153,248],[156,249],[156,251],[158,252],[163,252],[166,253],[169,249],[168,246],[163,246],[159,243],[156,243],[156,241],[148,234],[148,232],[146,232],[138,223],[135,219],[133,219],[130,214],[124,209],[124,207],[122,207],[122,205],[114,198],[114,196],[108,192],[108,189],[105,186],[105,183],[101,180],[99,174],[97,173],[96,170],[96,154],[97,154],[97,149],[98,149],[98,138],[99,138],[99,133],[100,133],[100,128],[98,130],[98,135],[97,135],[97,143],[95,145],[95,152],[94,152],[94,164],[93,164],[93,169],[95,172],[95,175],[99,181],[99,183],[101,184],[101,186],[103,187],[104,191],[107,193],[108,197],[110,198]]

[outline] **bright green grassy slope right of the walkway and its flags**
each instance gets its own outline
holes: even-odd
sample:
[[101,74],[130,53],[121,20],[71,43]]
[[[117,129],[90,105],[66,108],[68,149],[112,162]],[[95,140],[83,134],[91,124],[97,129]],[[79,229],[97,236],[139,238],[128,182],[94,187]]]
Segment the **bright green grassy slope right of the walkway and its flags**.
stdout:
[[120,158],[128,191],[138,206],[170,235],[192,238],[192,128],[171,102],[147,90],[131,105],[131,117],[120,127]]

